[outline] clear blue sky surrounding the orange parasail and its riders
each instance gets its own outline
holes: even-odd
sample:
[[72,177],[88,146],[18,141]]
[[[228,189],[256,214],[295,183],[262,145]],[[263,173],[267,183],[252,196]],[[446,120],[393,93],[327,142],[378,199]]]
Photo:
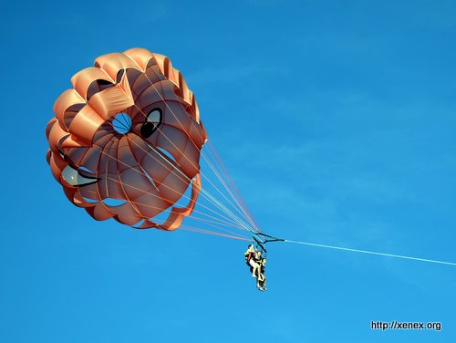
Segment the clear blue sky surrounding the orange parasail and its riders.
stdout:
[[[5,342],[449,342],[456,267],[98,223],[47,163],[47,120],[99,55],[171,57],[260,227],[456,262],[451,1],[4,5],[0,338]],[[252,322],[255,321],[253,325]],[[442,323],[440,332],[370,321]]]

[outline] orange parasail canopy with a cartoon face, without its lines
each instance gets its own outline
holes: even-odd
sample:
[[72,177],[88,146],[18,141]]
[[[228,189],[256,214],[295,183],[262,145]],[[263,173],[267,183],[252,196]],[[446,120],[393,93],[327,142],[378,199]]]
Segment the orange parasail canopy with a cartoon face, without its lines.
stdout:
[[[46,131],[47,162],[69,201],[100,221],[178,228],[201,189],[207,140],[181,72],[168,57],[132,48],[98,57],[71,83]],[[161,213],[168,217],[157,223]]]

